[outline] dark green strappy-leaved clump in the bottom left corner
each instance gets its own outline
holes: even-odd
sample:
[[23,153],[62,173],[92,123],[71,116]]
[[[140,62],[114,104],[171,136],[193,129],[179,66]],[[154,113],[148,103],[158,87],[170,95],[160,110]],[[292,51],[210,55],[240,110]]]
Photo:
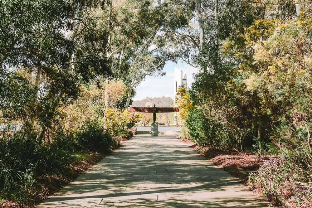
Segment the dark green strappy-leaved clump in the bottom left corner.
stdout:
[[16,133],[0,142],[0,197],[23,203],[32,198],[36,178],[63,172],[74,158],[57,143],[37,146],[32,137]]

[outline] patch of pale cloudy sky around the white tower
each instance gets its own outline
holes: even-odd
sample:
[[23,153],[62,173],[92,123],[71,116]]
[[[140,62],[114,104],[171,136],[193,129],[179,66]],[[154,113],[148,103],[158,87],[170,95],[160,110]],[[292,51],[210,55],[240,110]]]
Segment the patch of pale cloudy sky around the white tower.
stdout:
[[166,75],[162,77],[148,76],[146,79],[135,89],[136,95],[133,100],[142,100],[146,97],[171,97],[174,98],[174,69],[183,70],[183,75],[187,75],[187,85],[190,86],[194,81],[193,74],[197,73],[198,69],[192,66],[178,62],[168,62],[163,71]]

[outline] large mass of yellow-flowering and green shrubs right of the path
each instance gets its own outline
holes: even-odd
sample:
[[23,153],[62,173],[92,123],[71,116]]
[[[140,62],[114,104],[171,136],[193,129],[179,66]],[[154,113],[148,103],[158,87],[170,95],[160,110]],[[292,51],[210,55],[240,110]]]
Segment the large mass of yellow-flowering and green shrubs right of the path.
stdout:
[[[225,12],[234,10],[228,7]],[[217,62],[203,51],[209,58],[197,65],[209,67],[194,76],[188,103],[204,109],[202,116],[193,112],[194,119],[207,117],[220,124],[217,131],[228,139],[229,148],[298,148],[311,128],[311,18],[303,13],[297,21],[278,23],[251,17],[253,21],[240,22],[244,29],[238,36],[222,40],[220,34],[223,47]],[[192,124],[187,125],[191,130]]]

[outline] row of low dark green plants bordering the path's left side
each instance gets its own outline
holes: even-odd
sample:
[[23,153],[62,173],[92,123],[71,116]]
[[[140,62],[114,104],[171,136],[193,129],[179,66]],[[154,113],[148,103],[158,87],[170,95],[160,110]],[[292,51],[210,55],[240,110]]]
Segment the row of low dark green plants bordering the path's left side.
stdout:
[[119,140],[103,132],[97,123],[85,122],[78,132],[59,129],[51,144],[38,145],[36,137],[22,133],[5,136],[0,141],[0,197],[27,203],[36,197],[40,177],[62,175],[75,162],[88,162],[85,152],[110,152]]

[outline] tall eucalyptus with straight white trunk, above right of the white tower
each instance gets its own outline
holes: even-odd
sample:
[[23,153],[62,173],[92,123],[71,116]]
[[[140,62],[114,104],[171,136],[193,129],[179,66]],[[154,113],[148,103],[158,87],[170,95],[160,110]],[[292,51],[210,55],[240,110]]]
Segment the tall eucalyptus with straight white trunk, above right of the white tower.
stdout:
[[188,64],[213,73],[222,56],[222,41],[238,36],[250,25],[262,6],[235,0],[172,0],[191,14],[188,27],[174,31],[179,39],[177,50]]

